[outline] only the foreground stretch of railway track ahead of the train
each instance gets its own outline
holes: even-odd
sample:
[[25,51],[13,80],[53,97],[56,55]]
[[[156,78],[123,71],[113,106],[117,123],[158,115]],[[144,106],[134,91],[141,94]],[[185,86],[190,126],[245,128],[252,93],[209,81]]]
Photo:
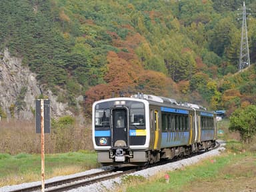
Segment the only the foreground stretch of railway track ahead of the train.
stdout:
[[[131,169],[127,171],[116,171],[114,169],[108,171],[101,171],[97,173],[92,173],[89,175],[83,175],[79,177],[72,177],[69,179],[63,179],[60,181],[53,181],[45,183],[45,192],[47,191],[67,191],[69,189],[75,189],[78,187],[83,187],[86,185],[91,185],[99,181],[105,181],[107,179],[113,179],[115,177],[120,177],[121,175],[129,174],[135,172],[136,169]],[[10,192],[29,192],[29,191],[41,191],[41,185],[35,185],[32,187],[26,187],[23,189],[17,189]]]

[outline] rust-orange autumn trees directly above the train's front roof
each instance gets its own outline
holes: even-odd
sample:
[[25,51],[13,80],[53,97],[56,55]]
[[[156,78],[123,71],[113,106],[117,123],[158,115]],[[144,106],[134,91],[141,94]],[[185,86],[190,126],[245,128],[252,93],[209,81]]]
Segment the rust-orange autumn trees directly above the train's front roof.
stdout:
[[[168,79],[163,73],[145,70],[135,57],[125,53],[109,51],[107,55],[106,83],[91,87],[86,91],[86,111],[91,112],[91,104],[100,99],[111,98],[122,94],[129,97],[133,93],[142,92],[152,95],[167,95]],[[125,58],[123,58],[125,57]],[[129,62],[130,61],[130,62]]]

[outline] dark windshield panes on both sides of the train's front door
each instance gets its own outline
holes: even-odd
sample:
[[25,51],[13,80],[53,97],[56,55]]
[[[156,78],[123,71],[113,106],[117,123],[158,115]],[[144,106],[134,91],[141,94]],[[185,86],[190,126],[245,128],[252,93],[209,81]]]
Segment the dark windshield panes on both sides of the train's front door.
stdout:
[[[131,129],[145,129],[145,106],[138,101],[124,101],[129,109],[129,127]],[[95,129],[110,129],[110,111],[115,101],[99,103],[95,106]]]

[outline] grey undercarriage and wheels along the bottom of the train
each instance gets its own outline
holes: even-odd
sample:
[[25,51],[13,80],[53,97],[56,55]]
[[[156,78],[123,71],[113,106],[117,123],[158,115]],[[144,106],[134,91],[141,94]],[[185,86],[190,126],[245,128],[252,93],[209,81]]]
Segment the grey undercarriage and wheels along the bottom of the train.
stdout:
[[192,145],[164,148],[161,150],[131,151],[128,148],[113,148],[111,151],[97,151],[98,162],[103,166],[114,167],[144,166],[159,162],[161,159],[174,159],[192,155],[198,151],[208,151],[215,146],[215,141],[202,141]]

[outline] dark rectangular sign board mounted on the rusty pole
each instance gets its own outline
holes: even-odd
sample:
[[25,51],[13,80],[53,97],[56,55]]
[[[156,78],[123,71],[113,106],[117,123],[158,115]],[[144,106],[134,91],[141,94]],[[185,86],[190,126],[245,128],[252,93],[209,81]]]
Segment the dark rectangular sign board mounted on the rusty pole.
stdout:
[[41,117],[41,99],[35,101],[35,132],[41,133],[41,119],[44,123],[45,133],[51,133],[51,102],[49,99],[43,99],[43,117]]

